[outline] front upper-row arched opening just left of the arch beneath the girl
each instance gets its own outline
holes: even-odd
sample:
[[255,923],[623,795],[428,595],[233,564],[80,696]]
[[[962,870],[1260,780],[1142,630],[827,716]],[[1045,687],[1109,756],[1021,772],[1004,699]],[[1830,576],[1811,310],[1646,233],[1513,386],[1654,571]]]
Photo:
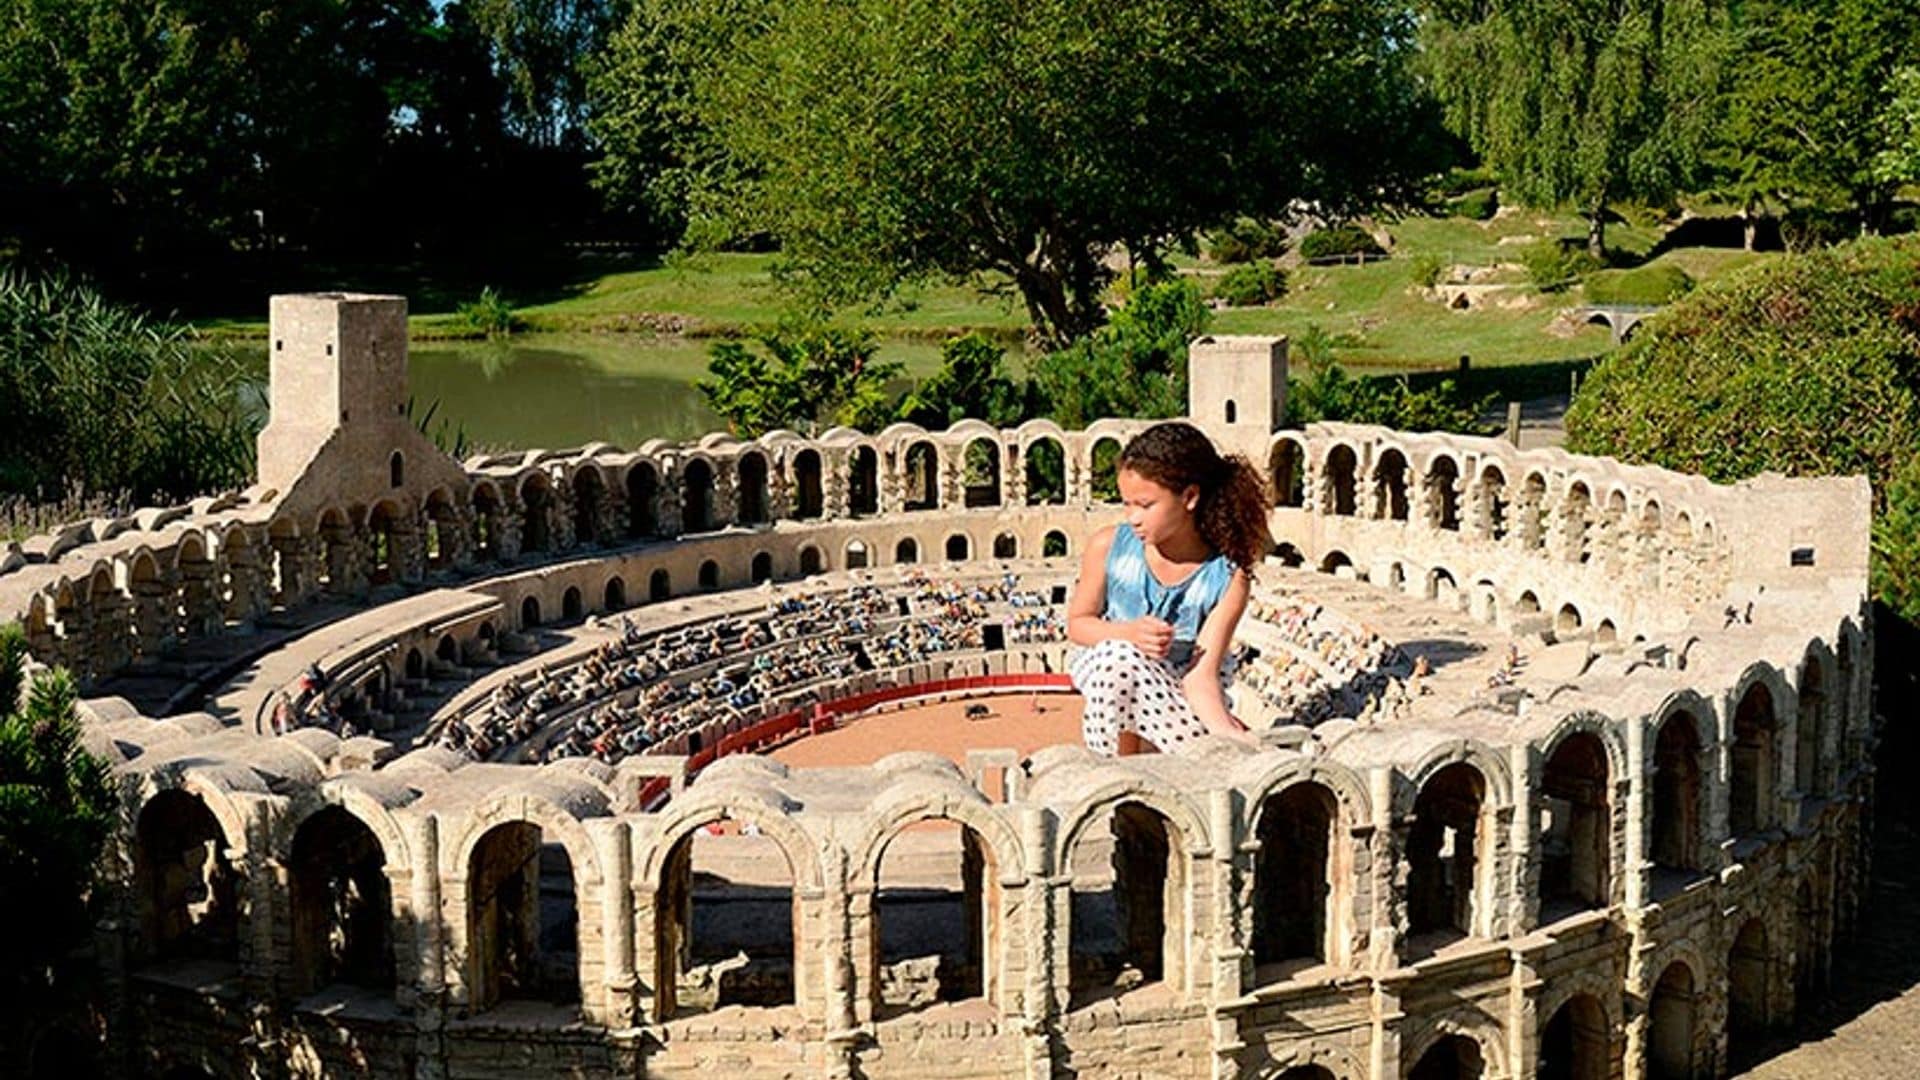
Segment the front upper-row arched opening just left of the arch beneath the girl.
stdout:
[[998,911],[993,853],[972,828],[935,819],[887,838],[874,880],[874,1013],[993,999]]

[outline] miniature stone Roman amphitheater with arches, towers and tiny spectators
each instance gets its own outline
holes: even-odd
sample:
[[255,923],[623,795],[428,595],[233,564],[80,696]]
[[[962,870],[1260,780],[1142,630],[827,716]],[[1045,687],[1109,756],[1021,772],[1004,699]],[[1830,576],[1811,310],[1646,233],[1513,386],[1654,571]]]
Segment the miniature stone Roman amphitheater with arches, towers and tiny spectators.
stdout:
[[405,371],[405,302],[275,298],[253,488],[0,552],[123,782],[111,1074],[1718,1076],[1859,915],[1862,479],[1283,430],[1202,338],[1261,748],[787,767],[1071,694],[1144,421],[461,463]]

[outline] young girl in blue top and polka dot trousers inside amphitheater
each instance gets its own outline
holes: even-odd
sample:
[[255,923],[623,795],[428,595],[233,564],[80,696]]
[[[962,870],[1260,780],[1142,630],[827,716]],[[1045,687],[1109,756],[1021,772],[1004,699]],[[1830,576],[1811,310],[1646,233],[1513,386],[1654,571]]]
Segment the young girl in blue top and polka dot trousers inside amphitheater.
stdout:
[[1192,425],[1146,429],[1119,454],[1125,525],[1092,534],[1068,605],[1071,663],[1094,753],[1175,749],[1202,734],[1254,736],[1227,709],[1221,661],[1267,553],[1260,473]]

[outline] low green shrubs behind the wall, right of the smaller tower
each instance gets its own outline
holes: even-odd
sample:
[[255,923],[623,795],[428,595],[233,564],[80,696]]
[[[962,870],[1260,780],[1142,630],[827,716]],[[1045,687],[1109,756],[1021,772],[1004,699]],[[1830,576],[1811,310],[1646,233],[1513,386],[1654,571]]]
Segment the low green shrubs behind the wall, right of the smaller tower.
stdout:
[[1292,425],[1344,421],[1398,430],[1490,430],[1482,417],[1494,407],[1494,396],[1469,400],[1452,379],[1415,390],[1405,377],[1354,377],[1332,357],[1332,338],[1319,327],[1308,327],[1290,346],[1294,359],[1308,369],[1286,390],[1286,419]]

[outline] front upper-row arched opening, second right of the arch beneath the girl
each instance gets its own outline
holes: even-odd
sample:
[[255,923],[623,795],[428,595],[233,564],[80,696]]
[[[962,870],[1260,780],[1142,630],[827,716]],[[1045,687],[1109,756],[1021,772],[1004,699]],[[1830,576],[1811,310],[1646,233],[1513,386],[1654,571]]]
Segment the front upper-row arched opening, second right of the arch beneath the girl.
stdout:
[[1407,822],[1407,932],[1428,936],[1409,945],[1440,945],[1476,926],[1480,813],[1486,780],[1467,763],[1434,773],[1413,799]]

